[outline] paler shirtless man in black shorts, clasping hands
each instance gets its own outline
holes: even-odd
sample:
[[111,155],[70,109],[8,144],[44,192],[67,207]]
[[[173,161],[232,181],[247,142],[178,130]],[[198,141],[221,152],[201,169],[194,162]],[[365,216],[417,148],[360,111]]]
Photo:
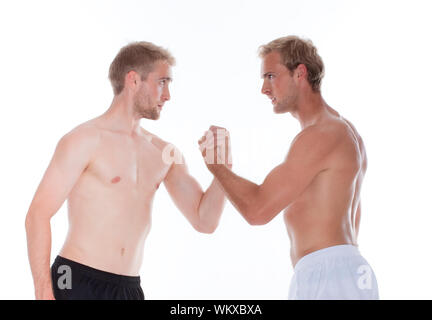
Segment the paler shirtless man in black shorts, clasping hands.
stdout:
[[[26,217],[36,299],[144,299],[139,270],[162,182],[197,231],[216,229],[225,202],[217,180],[203,192],[181,153],[139,124],[170,99],[173,64],[148,42],[122,48],[110,108],[58,142]],[[50,219],[66,199],[69,232],[50,268]]]

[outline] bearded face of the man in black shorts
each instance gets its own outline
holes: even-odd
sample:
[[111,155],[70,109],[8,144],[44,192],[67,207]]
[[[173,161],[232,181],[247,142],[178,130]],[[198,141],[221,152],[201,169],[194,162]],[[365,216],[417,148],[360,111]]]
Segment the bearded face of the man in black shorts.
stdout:
[[170,99],[171,66],[166,61],[156,61],[145,80],[137,80],[134,109],[142,118],[157,120],[166,101]]

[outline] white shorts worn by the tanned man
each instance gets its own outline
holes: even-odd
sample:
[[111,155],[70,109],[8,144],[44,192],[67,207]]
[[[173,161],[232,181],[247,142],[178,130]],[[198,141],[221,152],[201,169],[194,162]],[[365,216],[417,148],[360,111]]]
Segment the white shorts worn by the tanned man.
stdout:
[[339,245],[314,251],[297,262],[288,299],[379,299],[378,284],[358,248]]

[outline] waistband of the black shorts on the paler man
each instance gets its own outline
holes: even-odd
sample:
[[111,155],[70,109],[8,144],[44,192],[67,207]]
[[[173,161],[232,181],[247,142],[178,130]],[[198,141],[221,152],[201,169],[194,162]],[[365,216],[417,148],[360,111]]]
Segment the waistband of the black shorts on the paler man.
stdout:
[[111,273],[99,269],[95,269],[84,264],[72,261],[61,256],[57,256],[53,263],[53,266],[66,265],[74,272],[86,274],[94,279],[99,279],[105,282],[114,283],[123,286],[139,286],[141,283],[139,276],[125,276],[121,274]]

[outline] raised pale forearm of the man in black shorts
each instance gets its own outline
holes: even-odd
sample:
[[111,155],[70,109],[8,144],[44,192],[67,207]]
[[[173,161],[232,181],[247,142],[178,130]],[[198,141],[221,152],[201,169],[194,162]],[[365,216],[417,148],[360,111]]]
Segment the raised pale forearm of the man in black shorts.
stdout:
[[212,233],[216,230],[224,206],[225,194],[215,178],[203,194],[198,208],[200,229],[203,232]]

